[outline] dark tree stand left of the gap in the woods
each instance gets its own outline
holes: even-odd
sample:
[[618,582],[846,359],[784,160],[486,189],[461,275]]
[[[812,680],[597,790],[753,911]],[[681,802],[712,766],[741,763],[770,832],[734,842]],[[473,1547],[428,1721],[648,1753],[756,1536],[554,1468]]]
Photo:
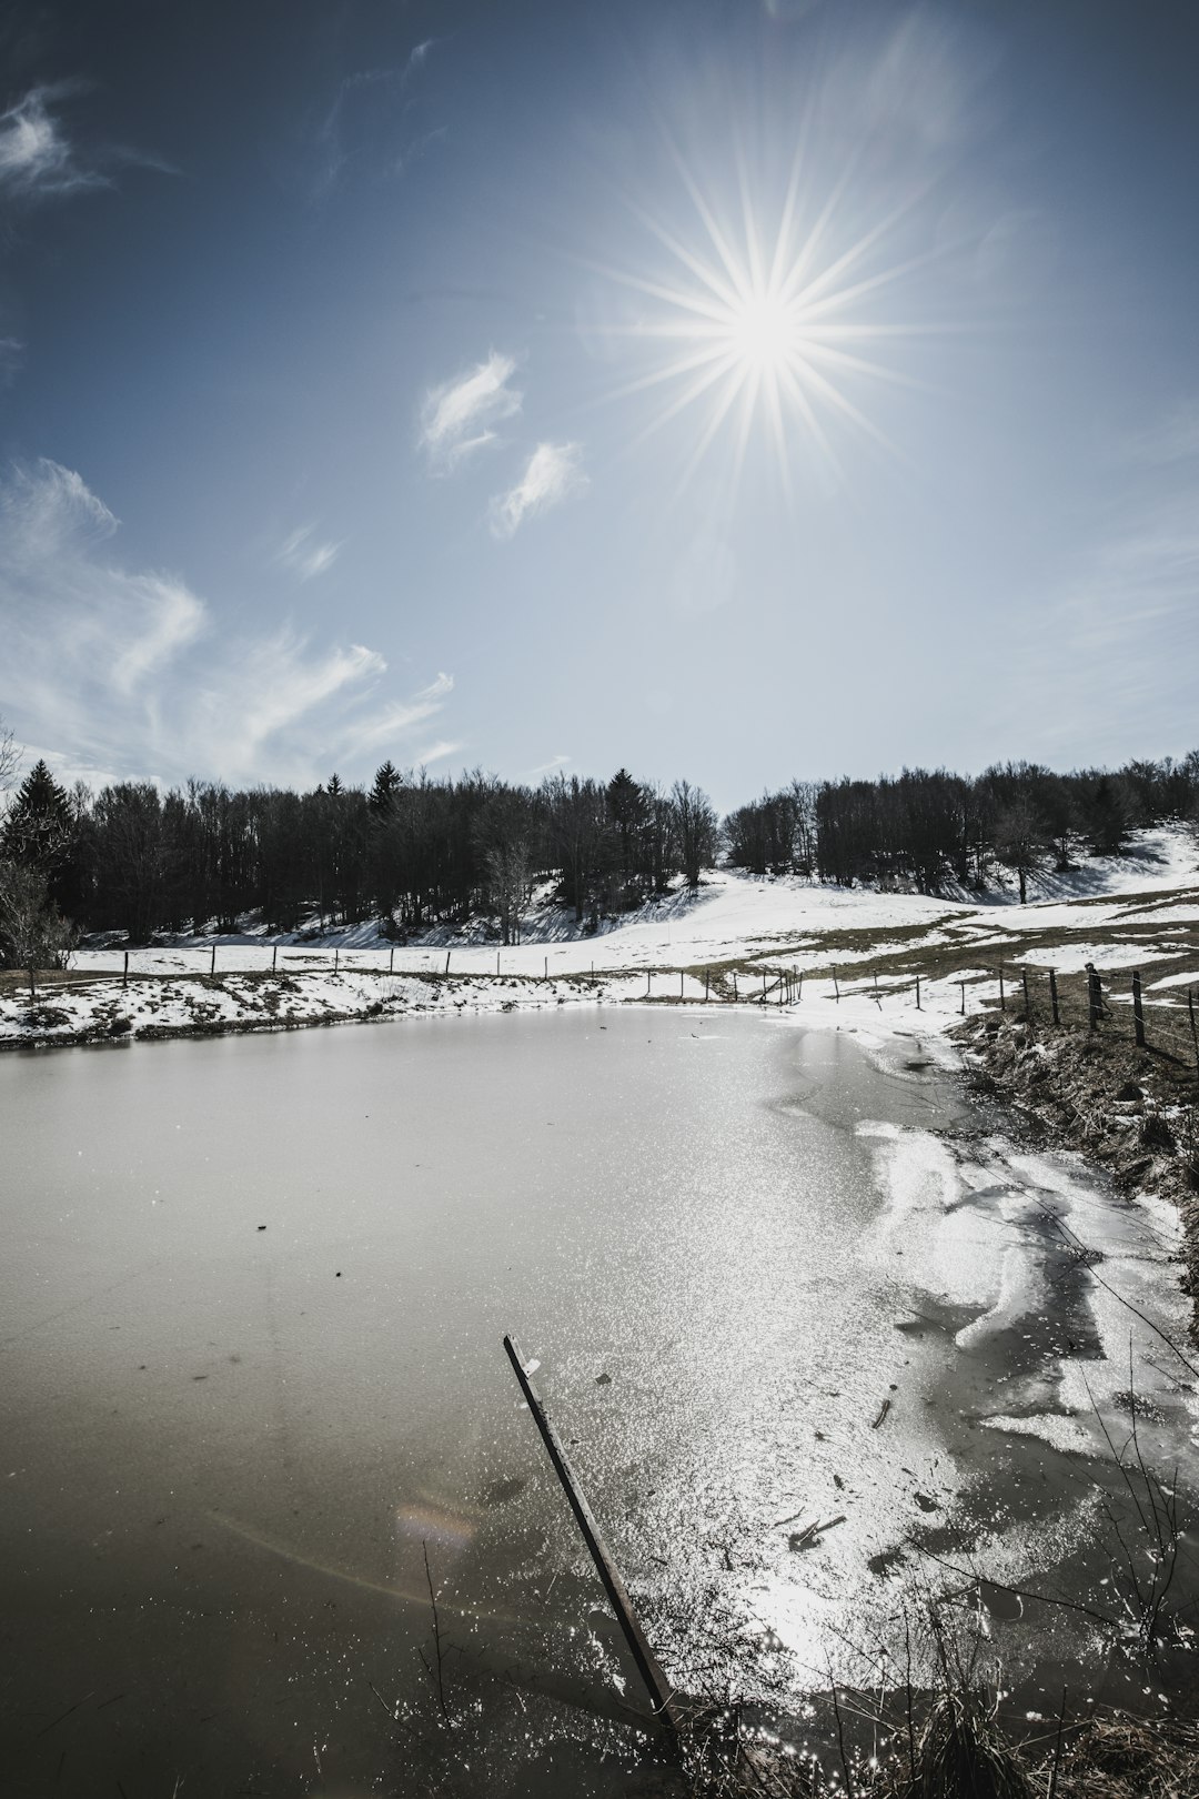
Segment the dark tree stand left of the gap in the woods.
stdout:
[[[75,932],[270,930],[379,919],[404,941],[439,925],[494,921],[518,941],[534,889],[548,883],[582,928],[692,887],[715,858],[717,817],[688,781],[554,775],[539,786],[482,772],[430,779],[385,763],[370,790],[336,774],[307,793],[146,781],[67,792],[40,761],[0,828],[4,955],[27,962],[13,914],[38,910]],[[7,925],[5,925],[7,921]]]

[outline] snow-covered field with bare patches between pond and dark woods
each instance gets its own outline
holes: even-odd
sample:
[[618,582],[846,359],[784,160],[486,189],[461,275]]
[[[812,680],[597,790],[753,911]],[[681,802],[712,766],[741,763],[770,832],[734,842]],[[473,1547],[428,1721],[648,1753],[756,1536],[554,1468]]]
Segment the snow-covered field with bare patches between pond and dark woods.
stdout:
[[[1199,982],[1199,855],[1183,828],[1136,835],[1120,858],[1048,876],[1021,907],[818,887],[800,878],[705,876],[593,935],[541,907],[521,943],[448,930],[388,944],[377,925],[187,939],[128,953],[79,950],[65,977],[0,989],[0,1043],[270,1029],[568,1004],[782,1007],[811,1027],[866,1034],[946,1029],[999,995],[999,970],[1059,975],[1140,968],[1185,1004]],[[478,939],[478,926],[475,928]],[[802,988],[800,988],[802,980]],[[917,991],[919,980],[919,991]]]

